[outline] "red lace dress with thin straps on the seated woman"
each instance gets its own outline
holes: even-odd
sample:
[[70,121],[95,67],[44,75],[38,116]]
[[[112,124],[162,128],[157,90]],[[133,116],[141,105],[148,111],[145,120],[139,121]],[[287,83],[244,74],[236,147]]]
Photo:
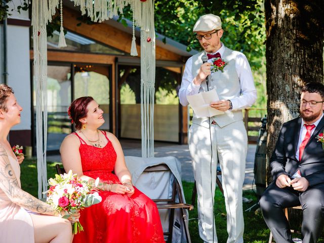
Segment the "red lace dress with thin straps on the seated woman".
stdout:
[[[79,139],[83,174],[121,184],[112,174],[117,155],[109,139],[103,148],[87,145]],[[84,231],[74,235],[74,243],[165,243],[156,205],[141,191],[135,188],[131,197],[101,190],[99,194],[101,203],[80,211],[79,221]]]

